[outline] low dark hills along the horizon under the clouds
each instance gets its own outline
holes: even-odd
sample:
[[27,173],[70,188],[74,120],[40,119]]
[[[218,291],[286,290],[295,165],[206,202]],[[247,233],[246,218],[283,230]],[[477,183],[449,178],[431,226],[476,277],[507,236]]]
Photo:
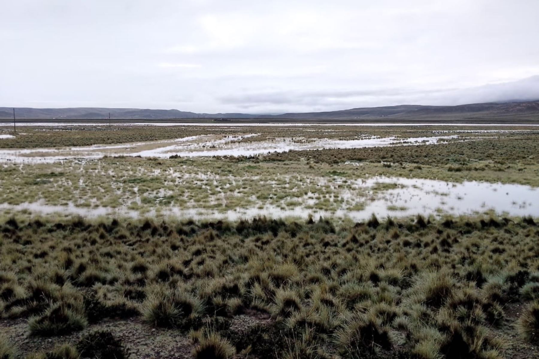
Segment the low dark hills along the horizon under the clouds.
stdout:
[[[181,118],[268,118],[268,119],[426,119],[433,117],[513,117],[537,116],[539,101],[473,103],[456,106],[397,105],[364,107],[327,112],[303,112],[282,115],[197,114],[179,110],[135,108],[15,108],[18,119],[181,119]],[[13,109],[0,107],[0,118],[12,119]]]

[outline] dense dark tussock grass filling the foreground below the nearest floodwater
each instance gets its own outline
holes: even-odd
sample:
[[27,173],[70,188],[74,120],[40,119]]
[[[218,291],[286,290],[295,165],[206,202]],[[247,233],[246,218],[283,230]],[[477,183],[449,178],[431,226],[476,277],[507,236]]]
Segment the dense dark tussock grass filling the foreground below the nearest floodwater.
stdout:
[[[537,226],[490,214],[421,218],[6,217],[0,315],[44,336],[139,316],[148,328],[199,333],[197,356],[500,357],[494,333],[506,306],[537,307]],[[519,331],[534,341],[527,313]],[[257,324],[239,330],[239,315]]]

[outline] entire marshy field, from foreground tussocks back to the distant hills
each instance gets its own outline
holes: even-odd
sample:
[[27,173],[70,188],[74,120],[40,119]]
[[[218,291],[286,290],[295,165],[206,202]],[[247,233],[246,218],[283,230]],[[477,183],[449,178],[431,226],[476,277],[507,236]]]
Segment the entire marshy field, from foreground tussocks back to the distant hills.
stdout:
[[539,357],[539,126],[0,124],[0,359]]

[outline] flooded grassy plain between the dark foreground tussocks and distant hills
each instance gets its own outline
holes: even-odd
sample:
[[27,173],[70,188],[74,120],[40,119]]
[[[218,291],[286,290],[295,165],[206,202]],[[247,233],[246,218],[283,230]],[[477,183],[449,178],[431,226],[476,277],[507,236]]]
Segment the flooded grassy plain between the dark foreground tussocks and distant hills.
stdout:
[[[7,131],[0,135],[5,147],[26,146],[0,149],[3,214],[231,221],[254,216],[361,221],[373,213],[539,216],[534,187],[539,166],[530,152],[539,134],[534,129],[406,129],[402,123],[401,129],[382,130],[353,123],[191,123],[184,124],[187,130],[142,123],[120,124],[139,126],[134,130],[102,123],[27,125],[34,128],[15,139]],[[429,124],[414,124],[419,125]],[[91,142],[79,140],[89,137]],[[503,147],[504,158],[492,158],[494,145]],[[324,149],[343,151],[314,151]],[[282,154],[264,156],[268,153]]]

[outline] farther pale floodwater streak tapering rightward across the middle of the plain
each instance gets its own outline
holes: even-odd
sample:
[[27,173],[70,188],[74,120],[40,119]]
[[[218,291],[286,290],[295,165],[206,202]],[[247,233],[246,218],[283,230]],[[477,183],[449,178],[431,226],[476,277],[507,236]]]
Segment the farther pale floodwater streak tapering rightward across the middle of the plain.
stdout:
[[253,156],[255,154],[286,152],[291,150],[351,149],[393,145],[437,144],[439,142],[459,138],[458,135],[412,138],[364,136],[351,140],[328,138],[277,138],[253,142],[241,142],[241,140],[245,138],[257,135],[258,133],[241,136],[201,135],[174,140],[65,147],[60,149],[4,149],[0,150],[0,161],[14,161],[17,163],[50,163],[70,158],[95,159],[103,156],[169,158],[176,154],[181,157]]

